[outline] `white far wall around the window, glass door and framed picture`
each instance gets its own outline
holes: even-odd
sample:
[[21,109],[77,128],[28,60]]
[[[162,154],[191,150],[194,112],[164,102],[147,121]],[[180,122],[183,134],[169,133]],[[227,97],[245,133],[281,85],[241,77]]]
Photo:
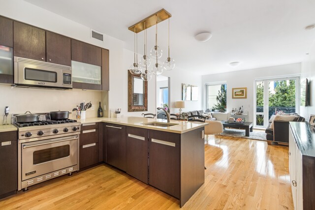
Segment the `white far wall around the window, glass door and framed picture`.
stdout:
[[[230,112],[234,107],[243,106],[249,112],[249,120],[253,121],[254,112],[254,79],[268,78],[284,75],[299,75],[301,73],[301,63],[293,63],[265,68],[234,71],[222,74],[211,74],[202,76],[203,107],[206,107],[206,84],[226,81],[226,111]],[[232,88],[247,87],[246,99],[232,99]]]

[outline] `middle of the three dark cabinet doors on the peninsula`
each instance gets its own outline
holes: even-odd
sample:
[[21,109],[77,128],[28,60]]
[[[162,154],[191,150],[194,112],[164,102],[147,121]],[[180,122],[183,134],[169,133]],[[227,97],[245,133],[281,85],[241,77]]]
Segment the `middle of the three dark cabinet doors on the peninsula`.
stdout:
[[127,127],[126,173],[148,183],[148,130]]

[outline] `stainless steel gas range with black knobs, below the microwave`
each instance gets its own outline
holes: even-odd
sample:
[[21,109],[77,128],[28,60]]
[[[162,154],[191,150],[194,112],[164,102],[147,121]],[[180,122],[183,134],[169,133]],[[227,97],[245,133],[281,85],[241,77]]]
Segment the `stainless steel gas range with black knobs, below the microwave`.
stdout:
[[80,122],[49,120],[19,123],[18,190],[79,170]]

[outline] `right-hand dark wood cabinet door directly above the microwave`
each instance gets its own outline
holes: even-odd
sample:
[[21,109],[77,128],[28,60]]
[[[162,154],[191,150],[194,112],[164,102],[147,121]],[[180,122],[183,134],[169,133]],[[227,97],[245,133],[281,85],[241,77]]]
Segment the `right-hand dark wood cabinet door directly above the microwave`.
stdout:
[[47,62],[71,66],[71,39],[46,31]]

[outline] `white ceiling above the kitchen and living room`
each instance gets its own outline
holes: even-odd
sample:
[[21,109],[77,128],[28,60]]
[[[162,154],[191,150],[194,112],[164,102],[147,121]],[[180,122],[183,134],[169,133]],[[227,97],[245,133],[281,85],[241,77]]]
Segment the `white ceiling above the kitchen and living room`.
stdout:
[[[176,68],[194,74],[274,66],[303,61],[315,41],[315,0],[26,0],[39,7],[125,41],[133,50],[127,28],[161,8],[170,19],[171,57]],[[210,31],[197,42],[194,35]],[[148,51],[155,28],[148,29]],[[143,33],[139,33],[143,53]],[[106,40],[105,40],[106,41]],[[167,21],[158,24],[158,45],[166,58]],[[228,65],[240,61],[237,67]]]

